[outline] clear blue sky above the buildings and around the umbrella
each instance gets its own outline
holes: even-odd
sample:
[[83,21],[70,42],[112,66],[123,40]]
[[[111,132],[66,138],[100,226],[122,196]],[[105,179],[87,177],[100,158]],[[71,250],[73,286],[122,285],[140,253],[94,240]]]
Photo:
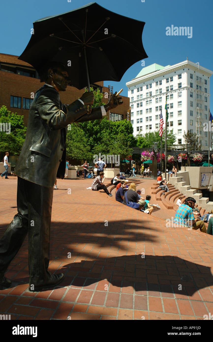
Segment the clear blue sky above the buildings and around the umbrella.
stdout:
[[[0,53],[20,55],[31,35],[32,23],[37,19],[78,8],[90,0],[21,0],[1,3]],[[143,45],[148,58],[145,66],[158,63],[173,65],[188,59],[213,70],[213,1],[212,0],[96,0],[96,2],[124,16],[144,21]],[[192,26],[192,38],[166,36],[166,27]],[[125,56],[124,56],[125,58]],[[125,83],[142,69],[141,61],[131,66],[121,82],[110,82],[114,90],[124,89]],[[210,93],[213,94],[213,76]],[[108,86],[108,81],[104,85]],[[211,100],[211,103],[212,100]],[[213,105],[212,105],[213,106]],[[213,107],[210,108],[213,112]]]

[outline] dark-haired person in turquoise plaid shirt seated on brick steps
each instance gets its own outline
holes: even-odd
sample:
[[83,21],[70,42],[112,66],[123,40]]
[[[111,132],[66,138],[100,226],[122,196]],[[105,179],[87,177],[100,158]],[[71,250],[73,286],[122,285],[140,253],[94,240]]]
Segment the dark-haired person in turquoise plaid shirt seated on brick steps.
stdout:
[[192,209],[195,208],[196,200],[192,197],[187,197],[184,204],[179,206],[175,213],[174,223],[182,227],[192,227],[192,229],[200,229],[201,232],[206,233],[207,228],[203,221],[195,219]]

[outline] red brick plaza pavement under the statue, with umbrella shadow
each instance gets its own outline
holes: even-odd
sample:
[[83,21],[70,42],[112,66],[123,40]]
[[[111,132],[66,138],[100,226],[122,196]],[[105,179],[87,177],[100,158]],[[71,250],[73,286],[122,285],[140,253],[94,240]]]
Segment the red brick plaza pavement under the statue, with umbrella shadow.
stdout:
[[[17,178],[9,178],[0,179],[0,236],[16,214]],[[150,194],[153,180],[141,181],[137,188]],[[0,291],[1,314],[18,320],[200,320],[213,312],[213,237],[167,228],[174,210],[162,206],[143,214],[87,190],[90,185],[58,180],[54,190],[49,269],[63,272],[63,283],[28,291],[26,238],[6,274],[12,287]]]

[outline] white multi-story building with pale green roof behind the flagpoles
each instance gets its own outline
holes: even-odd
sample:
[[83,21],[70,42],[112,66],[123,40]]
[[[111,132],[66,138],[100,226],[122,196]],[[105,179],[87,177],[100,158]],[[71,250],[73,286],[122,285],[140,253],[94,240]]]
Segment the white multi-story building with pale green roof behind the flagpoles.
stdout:
[[[176,134],[175,145],[183,144],[184,131],[190,130],[197,133],[202,148],[207,149],[208,132],[204,132],[203,123],[209,120],[212,74],[211,70],[188,60],[165,67],[156,63],[144,67],[126,83],[134,135],[159,129],[161,107],[165,127],[167,94],[167,132],[173,129]],[[210,144],[213,148],[212,132]]]

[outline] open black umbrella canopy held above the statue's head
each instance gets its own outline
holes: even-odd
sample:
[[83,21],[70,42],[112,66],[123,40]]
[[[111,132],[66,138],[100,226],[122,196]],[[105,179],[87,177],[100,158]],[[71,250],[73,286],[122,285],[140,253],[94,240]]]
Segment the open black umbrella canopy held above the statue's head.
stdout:
[[131,65],[148,57],[142,43],[144,25],[93,2],[35,21],[34,34],[18,58],[37,69],[41,82],[47,62],[63,63],[70,84],[82,89],[88,85],[85,50],[90,83],[120,81]]

